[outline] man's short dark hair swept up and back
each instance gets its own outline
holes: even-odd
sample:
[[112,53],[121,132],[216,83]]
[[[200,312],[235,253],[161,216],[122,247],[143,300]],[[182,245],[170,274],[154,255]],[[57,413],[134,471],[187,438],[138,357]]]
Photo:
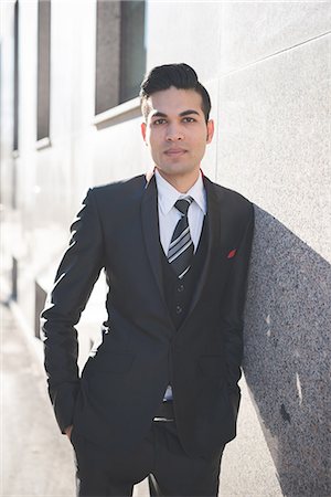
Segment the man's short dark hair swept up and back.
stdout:
[[205,87],[197,81],[195,71],[188,64],[164,64],[153,67],[146,74],[140,85],[141,112],[147,119],[149,114],[148,98],[156,92],[174,86],[178,89],[194,89],[202,98],[202,110],[207,123],[211,112],[211,97]]

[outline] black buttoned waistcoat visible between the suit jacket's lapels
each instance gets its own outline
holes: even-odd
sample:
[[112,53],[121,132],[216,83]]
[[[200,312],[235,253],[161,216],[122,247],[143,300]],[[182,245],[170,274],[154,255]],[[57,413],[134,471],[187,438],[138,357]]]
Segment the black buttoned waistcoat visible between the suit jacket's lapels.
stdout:
[[178,329],[185,319],[193,290],[199,282],[205,262],[207,250],[207,216],[204,216],[202,232],[192,265],[182,279],[179,279],[169,264],[161,244],[160,250],[166,300],[172,321]]

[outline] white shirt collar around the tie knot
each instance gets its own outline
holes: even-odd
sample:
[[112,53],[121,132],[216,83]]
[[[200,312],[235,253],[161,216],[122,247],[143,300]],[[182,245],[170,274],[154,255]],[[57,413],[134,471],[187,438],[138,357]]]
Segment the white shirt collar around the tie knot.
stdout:
[[205,190],[203,186],[202,175],[199,175],[197,180],[193,184],[192,188],[188,191],[188,193],[181,193],[175,188],[172,187],[156,169],[156,181],[158,188],[158,201],[161,209],[162,214],[167,215],[175,202],[183,197],[192,197],[192,199],[197,203],[202,212],[206,213],[206,197]]

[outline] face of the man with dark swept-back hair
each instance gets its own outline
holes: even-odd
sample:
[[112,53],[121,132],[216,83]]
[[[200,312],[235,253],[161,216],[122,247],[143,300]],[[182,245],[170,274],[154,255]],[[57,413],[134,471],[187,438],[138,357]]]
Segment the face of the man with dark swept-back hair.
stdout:
[[214,133],[213,121],[205,123],[200,94],[171,86],[151,95],[148,104],[141,133],[160,173],[170,182],[197,177]]

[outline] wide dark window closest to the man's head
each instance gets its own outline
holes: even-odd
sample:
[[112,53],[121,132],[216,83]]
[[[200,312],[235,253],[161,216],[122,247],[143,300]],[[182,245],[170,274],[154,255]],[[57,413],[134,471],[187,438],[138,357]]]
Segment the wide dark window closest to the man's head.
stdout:
[[100,114],[135,98],[146,70],[145,1],[97,1],[96,101]]

